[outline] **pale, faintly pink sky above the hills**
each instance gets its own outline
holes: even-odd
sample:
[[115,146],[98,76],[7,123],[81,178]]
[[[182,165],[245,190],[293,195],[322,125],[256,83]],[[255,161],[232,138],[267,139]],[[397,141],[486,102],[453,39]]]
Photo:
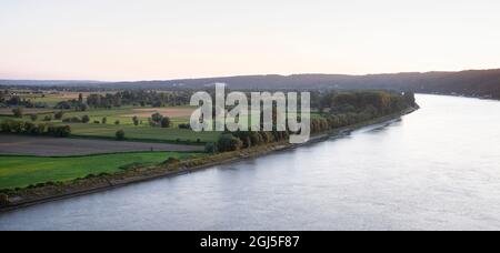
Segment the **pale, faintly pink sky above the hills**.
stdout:
[[500,68],[498,0],[0,0],[0,79]]

